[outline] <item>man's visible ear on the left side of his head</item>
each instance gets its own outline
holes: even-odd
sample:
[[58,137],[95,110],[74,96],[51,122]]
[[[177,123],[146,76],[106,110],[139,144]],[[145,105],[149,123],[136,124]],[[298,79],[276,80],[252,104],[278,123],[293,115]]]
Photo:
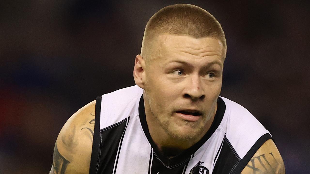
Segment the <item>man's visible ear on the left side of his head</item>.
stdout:
[[144,85],[146,81],[145,61],[140,54],[136,55],[133,74],[134,74],[135,84],[138,85],[140,88],[144,89]]

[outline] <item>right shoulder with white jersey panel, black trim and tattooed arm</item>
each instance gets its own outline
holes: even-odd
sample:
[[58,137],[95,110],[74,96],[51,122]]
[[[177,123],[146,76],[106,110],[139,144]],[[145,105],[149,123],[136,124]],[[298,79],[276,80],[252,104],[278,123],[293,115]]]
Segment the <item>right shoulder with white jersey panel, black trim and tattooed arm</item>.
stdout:
[[284,174],[282,157],[268,130],[246,108],[221,98],[226,106],[221,126],[230,148],[240,160],[234,172]]

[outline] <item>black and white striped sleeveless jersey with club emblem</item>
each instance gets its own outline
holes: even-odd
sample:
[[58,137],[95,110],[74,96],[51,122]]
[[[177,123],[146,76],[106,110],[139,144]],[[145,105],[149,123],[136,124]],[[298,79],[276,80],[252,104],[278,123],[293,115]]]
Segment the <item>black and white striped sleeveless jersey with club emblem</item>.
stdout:
[[206,135],[171,159],[153,142],[143,89],[131,86],[96,99],[90,174],[240,174],[270,133],[224,97]]

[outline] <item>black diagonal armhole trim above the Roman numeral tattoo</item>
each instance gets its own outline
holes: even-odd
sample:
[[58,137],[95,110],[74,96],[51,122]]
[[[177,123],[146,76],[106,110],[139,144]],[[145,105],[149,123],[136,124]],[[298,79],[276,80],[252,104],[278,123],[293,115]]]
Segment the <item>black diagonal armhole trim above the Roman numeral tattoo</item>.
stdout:
[[251,149],[246,153],[243,159],[241,159],[238,165],[232,170],[231,174],[240,174],[242,170],[244,169],[244,167],[246,167],[246,164],[249,163],[250,159],[253,157],[256,151],[260,148],[260,146],[262,146],[264,142],[266,142],[269,139],[272,139],[269,133],[266,133],[263,136],[261,136],[255,142],[255,144],[251,147]]

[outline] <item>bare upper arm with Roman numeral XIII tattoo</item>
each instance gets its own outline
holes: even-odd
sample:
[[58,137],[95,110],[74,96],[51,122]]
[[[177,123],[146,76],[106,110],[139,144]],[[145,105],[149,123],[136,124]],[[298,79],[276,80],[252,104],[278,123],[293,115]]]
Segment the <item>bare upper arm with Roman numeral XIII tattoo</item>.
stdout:
[[241,174],[285,174],[283,159],[271,139],[257,150]]

